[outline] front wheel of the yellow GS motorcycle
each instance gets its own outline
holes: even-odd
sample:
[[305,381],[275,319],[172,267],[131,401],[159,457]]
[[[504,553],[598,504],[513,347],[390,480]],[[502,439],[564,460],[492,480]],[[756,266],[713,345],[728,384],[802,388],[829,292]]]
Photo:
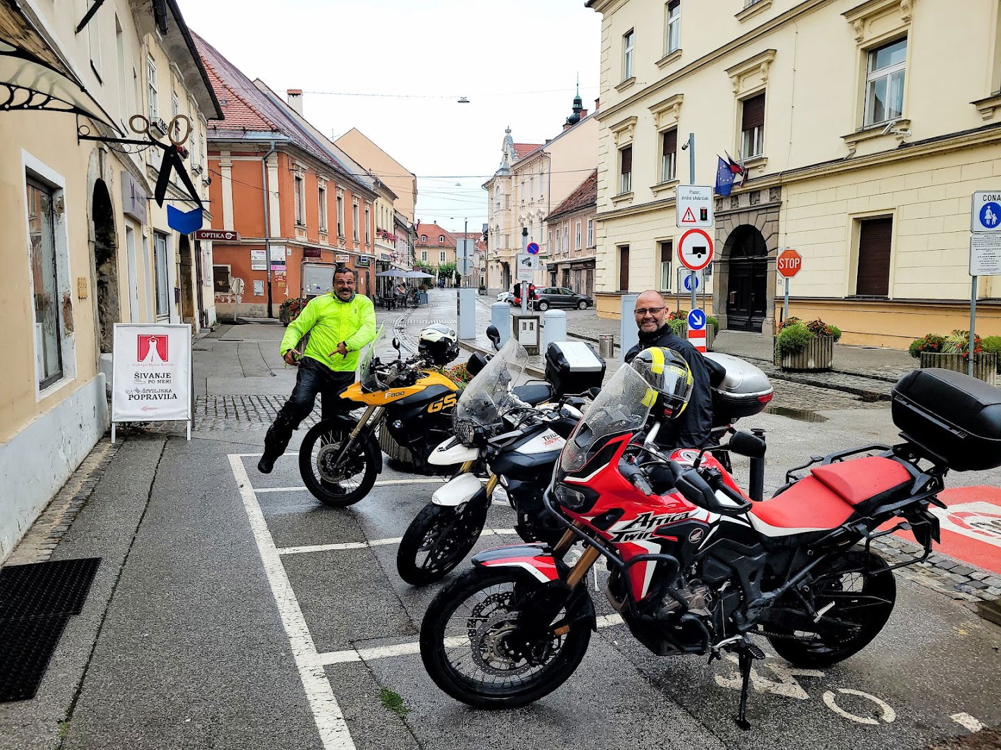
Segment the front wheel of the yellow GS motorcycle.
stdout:
[[306,488],[334,508],[352,505],[367,495],[382,464],[382,454],[370,437],[341,456],[348,433],[340,422],[317,422],[299,448],[299,472]]

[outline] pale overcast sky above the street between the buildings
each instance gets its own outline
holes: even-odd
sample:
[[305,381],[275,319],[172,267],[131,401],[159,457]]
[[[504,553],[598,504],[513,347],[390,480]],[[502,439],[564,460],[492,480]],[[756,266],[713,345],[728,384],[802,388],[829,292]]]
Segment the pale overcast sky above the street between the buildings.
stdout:
[[248,78],[303,89],[321,131],[356,127],[414,172],[416,218],[453,231],[462,217],[469,231],[486,221],[479,186],[500,163],[505,127],[519,143],[556,136],[578,73],[588,110],[598,96],[601,16],[584,0],[178,2]]

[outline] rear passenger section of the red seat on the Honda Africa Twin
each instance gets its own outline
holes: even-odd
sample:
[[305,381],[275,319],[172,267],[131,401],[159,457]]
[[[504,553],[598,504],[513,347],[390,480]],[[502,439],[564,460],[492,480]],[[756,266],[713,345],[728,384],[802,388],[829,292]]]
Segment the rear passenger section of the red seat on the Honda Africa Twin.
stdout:
[[[805,477],[781,495],[755,503],[750,515],[775,529],[777,533],[770,534],[771,536],[785,536],[835,529],[847,521],[853,512],[851,505],[819,479]],[[769,528],[761,524],[754,525],[758,531],[769,534]]]

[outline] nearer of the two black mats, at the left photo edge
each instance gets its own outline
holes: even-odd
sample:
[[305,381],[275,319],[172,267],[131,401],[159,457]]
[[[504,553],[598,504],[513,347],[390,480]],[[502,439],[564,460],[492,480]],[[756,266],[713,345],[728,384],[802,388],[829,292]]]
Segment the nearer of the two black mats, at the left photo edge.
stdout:
[[0,620],[0,703],[35,697],[70,615]]

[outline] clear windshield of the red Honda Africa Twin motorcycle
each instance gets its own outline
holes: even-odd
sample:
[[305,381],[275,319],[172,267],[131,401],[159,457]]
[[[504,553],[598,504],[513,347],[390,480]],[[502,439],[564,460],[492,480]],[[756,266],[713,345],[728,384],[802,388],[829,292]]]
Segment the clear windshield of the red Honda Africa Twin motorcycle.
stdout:
[[561,470],[567,473],[583,467],[610,435],[643,429],[656,400],[657,391],[636,370],[620,367],[571,433],[560,454]]

